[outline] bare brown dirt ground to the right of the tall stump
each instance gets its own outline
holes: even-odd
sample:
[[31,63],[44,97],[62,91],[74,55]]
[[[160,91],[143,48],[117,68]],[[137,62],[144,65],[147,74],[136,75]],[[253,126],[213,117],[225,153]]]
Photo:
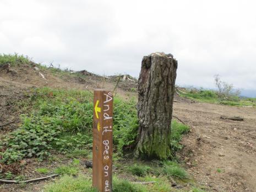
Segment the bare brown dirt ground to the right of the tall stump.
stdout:
[[[255,108],[187,101],[175,103],[174,114],[192,128],[181,155],[201,185],[210,191],[256,191]],[[221,115],[244,121],[221,120]]]

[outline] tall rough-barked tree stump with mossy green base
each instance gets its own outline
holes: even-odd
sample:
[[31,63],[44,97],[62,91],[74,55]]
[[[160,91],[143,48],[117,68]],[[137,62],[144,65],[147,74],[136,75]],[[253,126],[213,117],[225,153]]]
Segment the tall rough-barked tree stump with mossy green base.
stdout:
[[144,56],[138,82],[139,130],[135,157],[167,159],[177,60],[171,54]]

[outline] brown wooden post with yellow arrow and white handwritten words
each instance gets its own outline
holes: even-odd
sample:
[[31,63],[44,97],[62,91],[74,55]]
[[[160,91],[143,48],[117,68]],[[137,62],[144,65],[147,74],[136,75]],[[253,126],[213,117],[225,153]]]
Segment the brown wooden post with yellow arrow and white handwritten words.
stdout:
[[113,95],[94,90],[92,186],[100,192],[112,191]]

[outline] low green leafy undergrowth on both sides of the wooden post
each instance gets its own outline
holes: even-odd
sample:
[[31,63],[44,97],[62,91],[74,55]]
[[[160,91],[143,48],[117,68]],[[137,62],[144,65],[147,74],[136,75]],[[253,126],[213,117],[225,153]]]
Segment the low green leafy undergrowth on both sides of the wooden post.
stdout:
[[[27,102],[23,105],[31,105],[32,112],[22,115],[22,125],[0,142],[5,149],[0,152],[1,162],[12,163],[29,157],[43,160],[51,150],[74,154],[91,148],[91,92],[38,88],[31,91]],[[114,105],[113,140],[121,151],[124,145],[135,141],[137,112],[134,100],[116,98]]]

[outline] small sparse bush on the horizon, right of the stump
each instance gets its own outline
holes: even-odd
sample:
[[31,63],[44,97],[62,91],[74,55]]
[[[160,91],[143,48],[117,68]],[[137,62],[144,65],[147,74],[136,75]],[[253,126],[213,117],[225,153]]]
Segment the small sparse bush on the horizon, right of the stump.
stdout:
[[216,74],[214,76],[214,81],[218,89],[217,94],[222,99],[228,99],[232,96],[238,96],[241,93],[239,89],[234,89],[233,84],[229,84],[224,81],[221,81],[219,74]]

